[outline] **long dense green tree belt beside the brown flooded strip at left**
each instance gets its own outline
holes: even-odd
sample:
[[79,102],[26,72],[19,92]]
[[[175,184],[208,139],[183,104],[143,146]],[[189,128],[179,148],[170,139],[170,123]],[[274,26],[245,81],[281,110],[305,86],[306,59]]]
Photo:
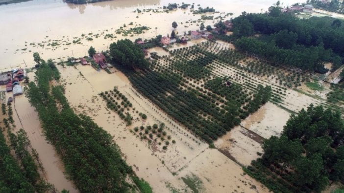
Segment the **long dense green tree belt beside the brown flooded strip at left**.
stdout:
[[76,188],[80,192],[126,192],[133,188],[125,178],[135,174],[122,159],[112,136],[90,117],[76,115],[62,86],[49,86],[54,76],[49,65],[42,63],[35,74],[37,83],[30,82],[25,95],[36,108],[44,134]]

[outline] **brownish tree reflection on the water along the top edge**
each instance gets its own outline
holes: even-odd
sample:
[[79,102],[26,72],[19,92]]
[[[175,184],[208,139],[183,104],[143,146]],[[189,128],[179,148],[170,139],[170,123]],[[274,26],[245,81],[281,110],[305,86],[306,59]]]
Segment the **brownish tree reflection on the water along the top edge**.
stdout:
[[109,0],[109,1],[102,1],[97,3],[89,3],[89,4],[73,4],[73,3],[66,3],[69,8],[71,9],[78,9],[80,14],[85,12],[86,6],[98,6],[102,8],[109,7],[110,10],[116,10],[118,8],[130,8],[130,7],[143,7],[147,5],[159,5],[160,0]]

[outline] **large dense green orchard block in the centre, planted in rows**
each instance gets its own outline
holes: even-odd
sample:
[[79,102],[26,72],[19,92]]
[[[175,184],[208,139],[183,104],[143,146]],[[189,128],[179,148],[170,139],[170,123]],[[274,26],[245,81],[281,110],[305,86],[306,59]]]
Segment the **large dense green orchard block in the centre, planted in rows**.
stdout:
[[[202,43],[201,45],[206,45]],[[211,46],[211,44],[209,44]],[[211,75],[217,60],[203,46],[157,56],[152,71],[128,73],[133,86],[201,139],[212,143],[270,99],[270,86],[242,86]]]

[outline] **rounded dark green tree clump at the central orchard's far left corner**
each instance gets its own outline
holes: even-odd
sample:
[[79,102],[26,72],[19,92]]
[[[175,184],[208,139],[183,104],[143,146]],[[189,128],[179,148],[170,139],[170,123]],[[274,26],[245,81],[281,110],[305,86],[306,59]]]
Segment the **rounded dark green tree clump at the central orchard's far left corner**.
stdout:
[[126,68],[146,69],[149,66],[141,47],[128,39],[111,43],[110,55],[114,62],[122,64]]

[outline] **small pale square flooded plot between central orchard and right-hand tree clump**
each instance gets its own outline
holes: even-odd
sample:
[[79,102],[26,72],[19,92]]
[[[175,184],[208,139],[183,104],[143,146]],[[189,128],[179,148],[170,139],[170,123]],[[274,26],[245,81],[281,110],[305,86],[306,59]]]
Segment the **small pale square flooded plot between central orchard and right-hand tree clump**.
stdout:
[[249,115],[242,123],[245,128],[268,139],[279,136],[291,113],[268,102],[259,110]]

